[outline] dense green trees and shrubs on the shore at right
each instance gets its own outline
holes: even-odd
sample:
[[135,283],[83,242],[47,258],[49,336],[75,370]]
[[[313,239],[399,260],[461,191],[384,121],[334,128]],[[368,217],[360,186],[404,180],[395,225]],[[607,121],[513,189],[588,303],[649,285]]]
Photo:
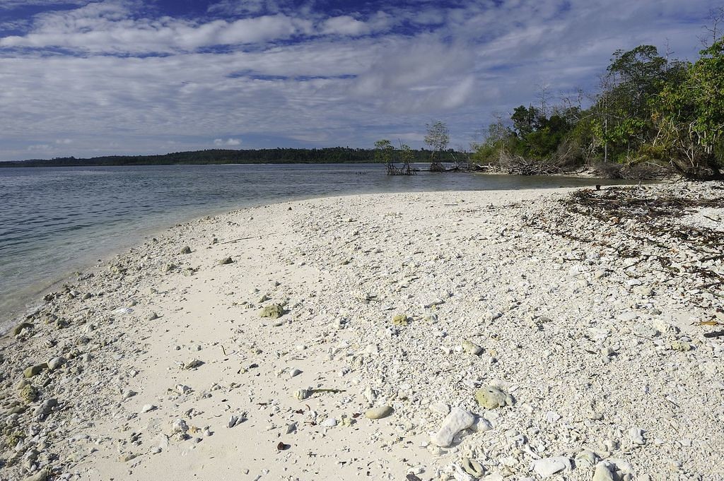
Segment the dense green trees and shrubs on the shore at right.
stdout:
[[[716,12],[715,25],[724,20]],[[724,169],[724,41],[716,27],[693,63],[655,46],[618,50],[599,92],[582,108],[582,92],[489,124],[472,145],[473,161],[529,166],[592,165],[612,176],[636,166],[668,166],[691,179],[721,179]],[[534,161],[531,163],[531,160]],[[531,172],[535,173],[535,171]]]

